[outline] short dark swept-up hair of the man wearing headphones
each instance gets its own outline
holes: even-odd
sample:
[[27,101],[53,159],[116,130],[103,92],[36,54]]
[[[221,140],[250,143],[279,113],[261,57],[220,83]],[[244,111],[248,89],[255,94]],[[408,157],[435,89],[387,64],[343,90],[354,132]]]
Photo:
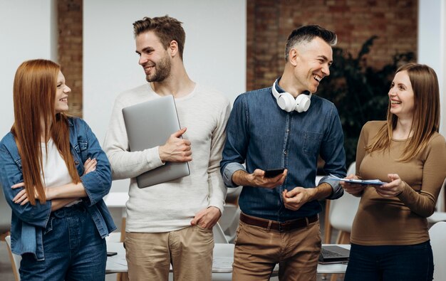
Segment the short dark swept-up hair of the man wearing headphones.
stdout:
[[301,26],[294,29],[294,31],[291,31],[286,40],[285,60],[288,61],[288,55],[291,48],[302,42],[310,42],[315,37],[321,38],[330,46],[335,46],[338,41],[336,33],[329,31],[326,28],[316,25]]

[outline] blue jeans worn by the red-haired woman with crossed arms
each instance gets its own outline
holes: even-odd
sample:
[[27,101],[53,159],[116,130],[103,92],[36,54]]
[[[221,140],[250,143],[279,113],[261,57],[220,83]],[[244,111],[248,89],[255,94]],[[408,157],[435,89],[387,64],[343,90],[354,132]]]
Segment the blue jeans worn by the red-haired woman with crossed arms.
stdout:
[[82,203],[51,213],[43,250],[42,261],[31,253],[22,255],[21,280],[105,280],[105,239]]

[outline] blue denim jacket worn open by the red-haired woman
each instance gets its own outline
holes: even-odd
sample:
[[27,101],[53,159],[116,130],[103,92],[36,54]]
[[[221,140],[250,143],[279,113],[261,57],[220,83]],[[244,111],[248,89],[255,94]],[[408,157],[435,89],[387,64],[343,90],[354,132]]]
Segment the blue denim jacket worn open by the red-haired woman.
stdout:
[[[100,148],[98,139],[85,121],[77,117],[68,118],[70,129],[71,154],[76,163],[78,174],[85,187],[87,197],[83,198],[88,213],[93,218],[102,238],[116,229],[103,197],[111,187],[111,170],[105,152]],[[98,160],[95,171],[83,175],[83,163],[90,157]],[[0,142],[0,177],[6,201],[12,209],[11,216],[11,250],[22,255],[33,253],[37,260],[44,260],[43,231],[51,214],[51,201],[32,206],[14,203],[12,199],[22,189],[11,189],[14,184],[24,181],[21,157],[17,150],[14,135],[9,132]]]

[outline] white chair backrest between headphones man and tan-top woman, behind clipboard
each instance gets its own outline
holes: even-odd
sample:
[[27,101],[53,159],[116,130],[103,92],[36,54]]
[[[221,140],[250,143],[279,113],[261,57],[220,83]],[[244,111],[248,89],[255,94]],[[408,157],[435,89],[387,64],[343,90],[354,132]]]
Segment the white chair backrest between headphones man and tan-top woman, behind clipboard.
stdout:
[[[355,174],[356,162],[353,162],[349,167],[347,174]],[[330,202],[330,224],[333,228],[351,233],[351,226],[353,219],[358,210],[359,201],[361,198],[344,192],[341,198],[332,200]]]

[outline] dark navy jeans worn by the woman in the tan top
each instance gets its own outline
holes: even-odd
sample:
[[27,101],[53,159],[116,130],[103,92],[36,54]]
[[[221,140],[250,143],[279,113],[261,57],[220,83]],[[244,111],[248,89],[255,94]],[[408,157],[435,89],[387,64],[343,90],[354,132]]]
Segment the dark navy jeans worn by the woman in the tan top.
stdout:
[[430,241],[415,245],[351,245],[345,281],[431,281]]

